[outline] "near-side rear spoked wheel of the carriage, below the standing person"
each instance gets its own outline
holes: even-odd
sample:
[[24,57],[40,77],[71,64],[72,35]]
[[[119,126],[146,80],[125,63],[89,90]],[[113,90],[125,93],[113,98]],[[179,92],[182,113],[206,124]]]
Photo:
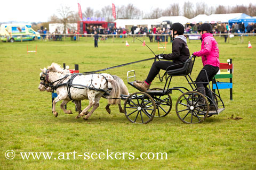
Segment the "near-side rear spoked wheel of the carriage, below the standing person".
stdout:
[[201,123],[208,113],[208,101],[204,95],[197,91],[188,91],[177,100],[176,114],[183,123]]

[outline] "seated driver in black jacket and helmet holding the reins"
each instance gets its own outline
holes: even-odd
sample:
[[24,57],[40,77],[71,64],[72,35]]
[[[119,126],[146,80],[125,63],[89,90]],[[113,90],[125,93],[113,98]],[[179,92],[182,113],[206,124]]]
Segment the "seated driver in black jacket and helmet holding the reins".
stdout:
[[[189,49],[187,46],[187,38],[183,36],[184,27],[181,23],[172,24],[171,28],[173,33],[173,43],[172,43],[172,53],[171,54],[159,54],[156,55],[156,58],[163,60],[172,60],[171,61],[156,61],[151,66],[151,69],[148,73],[148,77],[145,81],[136,81],[134,82],[134,86],[141,89],[142,91],[147,91],[150,87],[151,82],[154,80],[159,71],[166,70],[167,67],[175,64],[180,64],[186,62],[189,58]],[[178,69],[182,67],[183,64],[173,66],[170,70]]]

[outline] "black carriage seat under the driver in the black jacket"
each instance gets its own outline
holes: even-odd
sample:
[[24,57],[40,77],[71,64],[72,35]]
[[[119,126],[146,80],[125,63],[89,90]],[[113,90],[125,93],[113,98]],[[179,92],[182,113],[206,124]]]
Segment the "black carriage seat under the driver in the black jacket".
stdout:
[[172,66],[176,66],[176,65],[181,65],[183,64],[183,67],[179,68],[179,69],[174,69],[174,70],[169,70],[171,69],[172,66],[168,67],[166,69],[166,72],[168,75],[171,76],[178,76],[178,75],[187,75],[190,74],[192,69],[193,69],[193,61],[192,61],[192,56],[190,56],[185,63],[180,63],[180,64],[175,64]]

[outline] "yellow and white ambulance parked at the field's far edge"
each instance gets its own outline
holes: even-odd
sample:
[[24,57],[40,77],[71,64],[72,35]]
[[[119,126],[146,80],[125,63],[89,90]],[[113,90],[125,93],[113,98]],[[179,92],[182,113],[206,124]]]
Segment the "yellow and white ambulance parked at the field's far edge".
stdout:
[[30,41],[40,39],[39,32],[31,28],[30,23],[3,23],[0,26],[0,39],[2,41]]

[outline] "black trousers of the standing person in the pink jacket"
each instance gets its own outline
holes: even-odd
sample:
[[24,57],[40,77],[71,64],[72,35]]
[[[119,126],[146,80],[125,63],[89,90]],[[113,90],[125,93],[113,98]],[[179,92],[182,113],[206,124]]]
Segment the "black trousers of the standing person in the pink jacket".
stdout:
[[207,88],[208,83],[203,83],[203,82],[207,82],[207,77],[204,70],[207,72],[207,77],[210,82],[212,81],[212,78],[214,77],[214,75],[218,73],[219,67],[212,66],[212,65],[205,65],[196,78],[196,83],[202,82],[202,84],[199,83],[199,84],[196,84],[196,86],[204,87],[205,91],[209,91],[209,89]]

